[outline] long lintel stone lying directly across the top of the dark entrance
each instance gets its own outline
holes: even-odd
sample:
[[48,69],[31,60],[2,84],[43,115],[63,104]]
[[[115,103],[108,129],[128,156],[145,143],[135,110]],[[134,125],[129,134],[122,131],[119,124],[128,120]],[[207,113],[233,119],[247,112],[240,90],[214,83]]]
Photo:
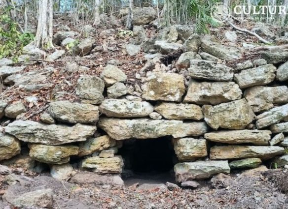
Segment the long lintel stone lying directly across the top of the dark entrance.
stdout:
[[204,122],[183,122],[181,120],[101,118],[98,126],[115,140],[153,139],[170,135],[174,138],[182,138],[200,136],[207,132]]

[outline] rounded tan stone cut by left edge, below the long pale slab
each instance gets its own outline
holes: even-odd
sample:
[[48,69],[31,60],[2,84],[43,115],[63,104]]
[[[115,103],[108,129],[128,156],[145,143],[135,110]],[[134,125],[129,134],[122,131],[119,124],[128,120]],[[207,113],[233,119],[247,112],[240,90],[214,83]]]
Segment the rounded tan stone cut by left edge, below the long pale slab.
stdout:
[[18,139],[7,134],[0,133],[0,161],[20,154],[21,145]]

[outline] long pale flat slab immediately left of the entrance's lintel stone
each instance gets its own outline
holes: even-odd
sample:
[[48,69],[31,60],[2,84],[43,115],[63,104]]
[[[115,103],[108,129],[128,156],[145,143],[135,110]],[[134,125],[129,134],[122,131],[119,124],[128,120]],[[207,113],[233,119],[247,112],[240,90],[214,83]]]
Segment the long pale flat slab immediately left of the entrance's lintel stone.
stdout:
[[96,126],[75,124],[46,125],[32,120],[15,120],[5,127],[5,132],[23,142],[45,145],[62,145],[86,141],[96,131]]

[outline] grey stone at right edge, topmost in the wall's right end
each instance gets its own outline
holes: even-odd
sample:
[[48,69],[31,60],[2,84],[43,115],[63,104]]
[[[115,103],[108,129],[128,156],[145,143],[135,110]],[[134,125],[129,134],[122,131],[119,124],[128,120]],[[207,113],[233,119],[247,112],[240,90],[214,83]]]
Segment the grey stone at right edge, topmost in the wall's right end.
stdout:
[[261,56],[268,62],[272,64],[278,64],[288,60],[288,52],[283,49],[273,49],[264,51]]

